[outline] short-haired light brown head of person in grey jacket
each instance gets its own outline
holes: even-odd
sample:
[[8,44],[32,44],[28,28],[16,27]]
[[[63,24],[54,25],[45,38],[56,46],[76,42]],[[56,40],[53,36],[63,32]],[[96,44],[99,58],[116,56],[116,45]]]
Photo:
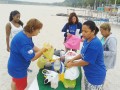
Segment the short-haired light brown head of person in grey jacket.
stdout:
[[103,37],[107,37],[110,34],[111,26],[109,23],[103,23],[100,25],[100,31]]

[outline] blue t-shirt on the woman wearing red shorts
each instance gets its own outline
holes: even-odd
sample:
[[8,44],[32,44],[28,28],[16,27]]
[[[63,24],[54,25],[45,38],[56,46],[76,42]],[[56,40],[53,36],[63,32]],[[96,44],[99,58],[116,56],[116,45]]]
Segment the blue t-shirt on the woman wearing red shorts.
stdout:
[[33,47],[32,38],[27,37],[23,31],[12,39],[8,60],[8,73],[12,77],[23,78],[27,76],[27,68],[35,56]]

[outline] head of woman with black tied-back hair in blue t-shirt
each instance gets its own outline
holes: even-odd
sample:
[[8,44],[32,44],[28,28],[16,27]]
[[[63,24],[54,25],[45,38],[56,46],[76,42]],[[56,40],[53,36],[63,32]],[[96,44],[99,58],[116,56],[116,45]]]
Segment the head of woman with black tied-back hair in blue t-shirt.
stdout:
[[89,39],[93,36],[96,36],[98,32],[99,29],[93,21],[88,20],[83,23],[82,35],[85,39]]

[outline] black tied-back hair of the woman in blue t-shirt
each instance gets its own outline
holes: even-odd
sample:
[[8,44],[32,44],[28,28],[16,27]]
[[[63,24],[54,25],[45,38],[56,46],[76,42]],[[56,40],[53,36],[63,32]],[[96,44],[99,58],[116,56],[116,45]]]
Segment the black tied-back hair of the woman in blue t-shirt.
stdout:
[[96,26],[96,24],[93,21],[86,21],[83,23],[83,25],[87,25],[91,31],[95,31],[95,35],[99,32],[98,27]]

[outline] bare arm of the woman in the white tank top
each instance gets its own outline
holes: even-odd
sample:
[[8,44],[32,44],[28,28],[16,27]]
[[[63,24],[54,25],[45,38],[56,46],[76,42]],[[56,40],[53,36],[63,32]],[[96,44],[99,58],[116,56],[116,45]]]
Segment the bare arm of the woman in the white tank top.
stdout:
[[10,51],[10,46],[9,46],[9,42],[10,42],[10,33],[11,33],[11,25],[10,23],[6,24],[6,44],[7,44],[7,51]]

